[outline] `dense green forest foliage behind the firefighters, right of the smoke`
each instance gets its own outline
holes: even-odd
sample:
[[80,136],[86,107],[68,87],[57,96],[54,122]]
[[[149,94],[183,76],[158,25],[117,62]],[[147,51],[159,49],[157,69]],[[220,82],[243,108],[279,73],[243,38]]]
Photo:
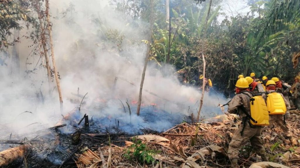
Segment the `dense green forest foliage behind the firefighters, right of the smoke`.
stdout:
[[[126,12],[128,9],[138,9],[140,13],[134,17],[148,22],[148,3],[135,0],[112,1],[118,2],[125,13],[128,13]],[[204,43],[206,76],[214,82],[214,90],[230,94],[235,87],[237,76],[239,74],[247,76],[250,72],[255,72],[257,77],[278,76],[289,82],[298,71],[298,68],[296,70],[292,68],[291,59],[293,53],[300,49],[299,24],[297,24],[300,20],[297,14],[299,10],[294,14],[290,12],[296,10],[295,6],[299,1],[249,0],[251,13],[230,18],[225,16],[221,23],[216,19],[220,13],[220,1],[213,1],[205,39],[203,39],[203,25],[209,1],[198,5],[188,0],[172,1],[171,39],[166,28],[164,1],[155,1],[156,15],[150,60],[157,64],[156,68],[161,70],[162,74],[165,74],[165,64],[170,50],[170,64],[176,68],[179,80],[187,85],[200,85],[199,74],[203,72],[202,58],[199,57],[202,51],[199,46]],[[289,4],[294,5],[292,7]],[[271,11],[276,12],[271,14]],[[278,20],[280,17],[289,18]],[[277,18],[272,22],[277,26],[265,29],[265,25],[261,24],[267,23],[272,18]],[[291,18],[295,22],[291,22]],[[262,35],[264,40],[261,40]]]

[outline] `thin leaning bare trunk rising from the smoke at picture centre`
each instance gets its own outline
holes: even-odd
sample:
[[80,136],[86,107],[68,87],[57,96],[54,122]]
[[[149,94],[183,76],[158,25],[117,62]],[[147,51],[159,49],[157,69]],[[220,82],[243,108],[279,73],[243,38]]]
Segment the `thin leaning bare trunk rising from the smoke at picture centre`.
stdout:
[[145,64],[144,64],[144,69],[142,73],[142,80],[141,80],[141,85],[140,85],[140,94],[139,94],[139,101],[137,103],[137,115],[140,115],[140,108],[141,108],[141,101],[142,101],[142,91],[143,91],[143,85],[144,85],[144,80],[145,80],[145,74],[146,74],[146,68],[150,56],[150,43],[151,43],[151,37],[152,37],[152,26],[153,26],[153,0],[150,0],[151,3],[151,14],[150,14],[150,33],[149,33],[149,41],[147,44],[147,55],[145,58]]

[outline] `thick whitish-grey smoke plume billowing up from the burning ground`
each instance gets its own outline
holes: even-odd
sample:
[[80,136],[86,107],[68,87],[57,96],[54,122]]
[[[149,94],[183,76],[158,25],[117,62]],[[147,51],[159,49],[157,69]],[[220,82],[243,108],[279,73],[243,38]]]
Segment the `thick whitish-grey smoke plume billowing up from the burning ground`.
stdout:
[[[79,106],[82,97],[75,96],[79,88],[80,95],[88,93],[82,105],[88,109],[85,112],[94,120],[101,120],[105,127],[115,126],[115,120],[119,120],[120,129],[127,132],[141,128],[163,131],[188,120],[191,113],[196,116],[199,90],[182,85],[171,66],[160,68],[153,61],[146,71],[141,116],[135,114],[146,55],[142,41],[147,37],[148,23],[122,15],[107,1],[50,3],[55,58],[64,98],[62,115]],[[0,66],[0,126],[4,128],[1,135],[48,128],[62,118],[55,81],[50,98],[46,69],[36,67],[43,58],[27,59],[32,48],[28,48],[26,39],[21,39],[19,45],[20,74],[12,73],[9,59],[7,66]],[[32,72],[28,74],[25,70]],[[131,106],[131,116],[126,101]],[[219,102],[226,102],[221,94],[205,94],[201,116],[220,114]],[[78,119],[82,116],[79,114]]]

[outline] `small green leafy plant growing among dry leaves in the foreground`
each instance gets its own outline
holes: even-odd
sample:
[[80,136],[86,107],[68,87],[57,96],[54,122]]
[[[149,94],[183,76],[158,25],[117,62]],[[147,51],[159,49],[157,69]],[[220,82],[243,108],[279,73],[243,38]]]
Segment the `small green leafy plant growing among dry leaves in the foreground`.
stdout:
[[148,149],[147,145],[143,143],[142,140],[134,138],[133,141],[134,144],[125,151],[124,157],[130,161],[138,161],[141,164],[152,164],[155,161],[152,155],[157,154],[158,151]]

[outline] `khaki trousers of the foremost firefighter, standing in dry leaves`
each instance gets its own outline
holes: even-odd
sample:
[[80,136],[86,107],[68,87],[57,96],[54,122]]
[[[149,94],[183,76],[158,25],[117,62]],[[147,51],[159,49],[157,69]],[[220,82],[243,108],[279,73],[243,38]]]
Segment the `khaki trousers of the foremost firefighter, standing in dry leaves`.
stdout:
[[250,126],[248,121],[244,124],[244,131],[241,135],[241,131],[243,130],[243,124],[239,126],[238,130],[232,136],[232,140],[229,143],[228,148],[228,158],[230,160],[234,158],[238,158],[239,150],[246,145],[248,141],[250,141],[253,146],[253,150],[256,154],[260,156],[265,156],[265,148],[263,146],[264,141],[261,138],[262,127],[261,126]]

